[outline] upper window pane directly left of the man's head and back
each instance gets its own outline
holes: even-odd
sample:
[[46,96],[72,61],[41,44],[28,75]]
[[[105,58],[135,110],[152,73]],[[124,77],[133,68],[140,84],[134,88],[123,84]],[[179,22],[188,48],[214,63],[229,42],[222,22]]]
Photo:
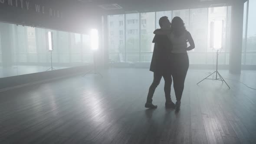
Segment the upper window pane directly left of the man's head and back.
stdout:
[[155,13],[141,13],[141,52],[153,52]]

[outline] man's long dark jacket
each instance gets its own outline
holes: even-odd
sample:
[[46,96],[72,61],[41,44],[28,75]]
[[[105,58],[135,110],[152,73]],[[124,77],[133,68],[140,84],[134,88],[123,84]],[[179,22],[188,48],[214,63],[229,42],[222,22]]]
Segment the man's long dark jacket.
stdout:
[[149,70],[160,75],[170,74],[172,49],[170,39],[167,35],[155,35],[152,43],[154,43],[154,51]]

